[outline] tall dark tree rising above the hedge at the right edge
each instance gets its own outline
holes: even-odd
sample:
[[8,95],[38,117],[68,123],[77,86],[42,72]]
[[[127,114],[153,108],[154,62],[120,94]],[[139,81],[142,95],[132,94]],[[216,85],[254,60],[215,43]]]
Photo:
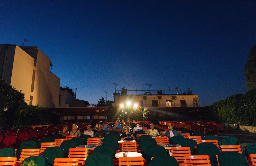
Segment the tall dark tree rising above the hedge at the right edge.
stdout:
[[254,45],[244,66],[245,86],[247,91],[256,88],[256,45]]

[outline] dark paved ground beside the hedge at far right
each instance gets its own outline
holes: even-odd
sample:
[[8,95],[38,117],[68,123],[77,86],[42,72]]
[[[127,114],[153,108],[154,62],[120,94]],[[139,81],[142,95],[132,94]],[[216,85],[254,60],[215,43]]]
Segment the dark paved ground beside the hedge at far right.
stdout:
[[240,146],[241,149],[243,150],[245,144],[253,144],[256,143],[256,133],[251,133],[248,131],[241,131],[241,130],[235,130],[235,129],[227,129],[226,132],[222,132],[218,135],[218,138],[221,139],[224,136],[232,136],[235,137]]

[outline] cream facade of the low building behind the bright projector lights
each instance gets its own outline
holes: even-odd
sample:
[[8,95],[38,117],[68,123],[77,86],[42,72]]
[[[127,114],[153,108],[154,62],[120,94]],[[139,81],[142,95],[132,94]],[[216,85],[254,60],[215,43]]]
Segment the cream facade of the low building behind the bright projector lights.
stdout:
[[124,106],[128,101],[131,106],[137,104],[138,107],[147,108],[167,108],[167,107],[195,107],[199,100],[198,95],[115,95],[115,102],[112,106]]

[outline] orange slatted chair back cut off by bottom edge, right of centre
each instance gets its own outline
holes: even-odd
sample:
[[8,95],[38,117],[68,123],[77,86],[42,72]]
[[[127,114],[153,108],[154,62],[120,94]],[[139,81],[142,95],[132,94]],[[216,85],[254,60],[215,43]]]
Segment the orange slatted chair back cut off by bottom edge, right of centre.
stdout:
[[208,155],[184,156],[185,165],[211,166],[210,157]]

